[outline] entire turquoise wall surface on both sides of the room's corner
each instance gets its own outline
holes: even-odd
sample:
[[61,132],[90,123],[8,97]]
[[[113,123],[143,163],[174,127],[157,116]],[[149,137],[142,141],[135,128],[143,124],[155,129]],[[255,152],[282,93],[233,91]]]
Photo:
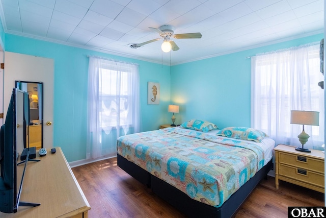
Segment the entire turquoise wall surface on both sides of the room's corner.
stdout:
[[[170,103],[180,105],[176,124],[209,120],[220,128],[250,126],[251,60],[255,54],[320,41],[323,34],[170,67],[11,34],[0,30],[8,52],[55,62],[54,146],[68,162],[86,158],[88,55],[139,64],[142,131],[171,123]],[[319,73],[319,72],[316,72]],[[147,82],[160,83],[160,104],[147,105]]]

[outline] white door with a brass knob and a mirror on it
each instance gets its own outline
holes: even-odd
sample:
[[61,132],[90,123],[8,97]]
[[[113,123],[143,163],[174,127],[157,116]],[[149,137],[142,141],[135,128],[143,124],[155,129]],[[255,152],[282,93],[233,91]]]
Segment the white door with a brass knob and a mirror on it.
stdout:
[[[5,52],[4,118],[15,81],[43,82],[43,148],[53,147],[54,61],[31,55]],[[5,120],[5,119],[4,119]],[[23,148],[17,148],[21,153]]]

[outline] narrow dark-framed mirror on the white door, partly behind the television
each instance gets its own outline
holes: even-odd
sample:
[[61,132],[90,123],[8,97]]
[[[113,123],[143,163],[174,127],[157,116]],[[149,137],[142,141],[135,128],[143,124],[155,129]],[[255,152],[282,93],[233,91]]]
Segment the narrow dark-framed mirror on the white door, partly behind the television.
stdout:
[[43,148],[43,83],[15,81],[15,87],[29,93],[29,147]]

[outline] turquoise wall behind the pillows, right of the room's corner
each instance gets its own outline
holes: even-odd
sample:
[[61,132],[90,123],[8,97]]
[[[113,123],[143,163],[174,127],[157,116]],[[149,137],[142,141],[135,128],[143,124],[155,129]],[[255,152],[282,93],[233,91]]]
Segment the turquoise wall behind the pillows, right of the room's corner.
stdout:
[[[177,122],[206,119],[220,129],[250,127],[251,59],[259,53],[319,42],[323,34],[172,66],[171,101]],[[319,74],[320,72],[316,72]]]

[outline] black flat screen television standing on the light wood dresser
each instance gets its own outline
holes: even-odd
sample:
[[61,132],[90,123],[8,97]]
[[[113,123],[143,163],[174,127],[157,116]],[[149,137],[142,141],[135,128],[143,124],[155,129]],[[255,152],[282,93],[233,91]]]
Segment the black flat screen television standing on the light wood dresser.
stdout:
[[40,205],[20,201],[28,161],[17,165],[17,148],[25,148],[28,143],[29,110],[28,93],[13,88],[5,124],[0,129],[0,212],[15,213],[18,206]]

